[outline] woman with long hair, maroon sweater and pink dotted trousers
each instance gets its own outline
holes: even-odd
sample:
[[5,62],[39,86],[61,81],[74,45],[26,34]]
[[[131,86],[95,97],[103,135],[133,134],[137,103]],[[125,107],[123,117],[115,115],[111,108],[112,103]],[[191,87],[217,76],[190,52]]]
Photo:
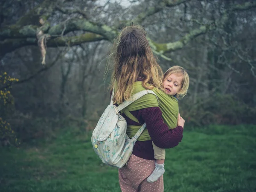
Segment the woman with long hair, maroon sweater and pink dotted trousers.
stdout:
[[[111,87],[115,84],[113,101],[117,105],[124,102],[138,90],[134,84],[141,81],[143,89],[163,90],[162,70],[157,64],[146,39],[146,33],[140,26],[125,27],[116,38],[113,49],[114,70]],[[141,87],[140,87],[141,89]],[[146,178],[155,166],[152,142],[159,148],[172,148],[183,137],[184,120],[178,118],[177,127],[170,129],[163,122],[162,112],[157,98],[147,94],[130,106],[134,110],[123,114],[129,127],[146,123],[146,132],[151,140],[137,141],[127,165],[119,169],[119,183],[122,192],[163,192],[163,176],[149,183]],[[134,118],[131,118],[134,116]],[[132,120],[133,119],[133,120]]]

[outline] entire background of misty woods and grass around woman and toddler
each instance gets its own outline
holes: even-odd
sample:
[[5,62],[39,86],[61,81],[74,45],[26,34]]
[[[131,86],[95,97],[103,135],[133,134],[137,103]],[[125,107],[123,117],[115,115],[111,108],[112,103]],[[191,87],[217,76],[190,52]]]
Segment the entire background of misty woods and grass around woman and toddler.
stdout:
[[256,0],[1,0],[0,191],[120,190],[90,135],[130,24],[190,76],[165,191],[256,191]]

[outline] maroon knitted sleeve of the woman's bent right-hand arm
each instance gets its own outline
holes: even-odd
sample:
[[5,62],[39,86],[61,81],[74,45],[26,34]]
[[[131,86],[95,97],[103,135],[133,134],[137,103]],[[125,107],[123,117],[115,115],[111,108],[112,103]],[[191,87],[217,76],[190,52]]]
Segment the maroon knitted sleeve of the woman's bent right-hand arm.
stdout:
[[145,121],[148,133],[159,148],[173,148],[181,142],[183,137],[183,128],[177,126],[169,129],[163,122],[162,111],[159,107],[144,108],[140,110],[140,115]]

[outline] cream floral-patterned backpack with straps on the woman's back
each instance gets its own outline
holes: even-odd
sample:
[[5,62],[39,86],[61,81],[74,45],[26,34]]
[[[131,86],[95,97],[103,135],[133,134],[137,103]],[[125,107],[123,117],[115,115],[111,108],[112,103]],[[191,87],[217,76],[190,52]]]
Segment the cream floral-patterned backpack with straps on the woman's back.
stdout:
[[143,90],[131,96],[118,107],[113,105],[112,94],[110,105],[100,117],[91,137],[93,149],[103,163],[121,168],[128,162],[134,143],[144,131],[146,124],[144,123],[135,136],[130,139],[126,134],[126,120],[119,111],[148,93],[156,96],[152,90]]

